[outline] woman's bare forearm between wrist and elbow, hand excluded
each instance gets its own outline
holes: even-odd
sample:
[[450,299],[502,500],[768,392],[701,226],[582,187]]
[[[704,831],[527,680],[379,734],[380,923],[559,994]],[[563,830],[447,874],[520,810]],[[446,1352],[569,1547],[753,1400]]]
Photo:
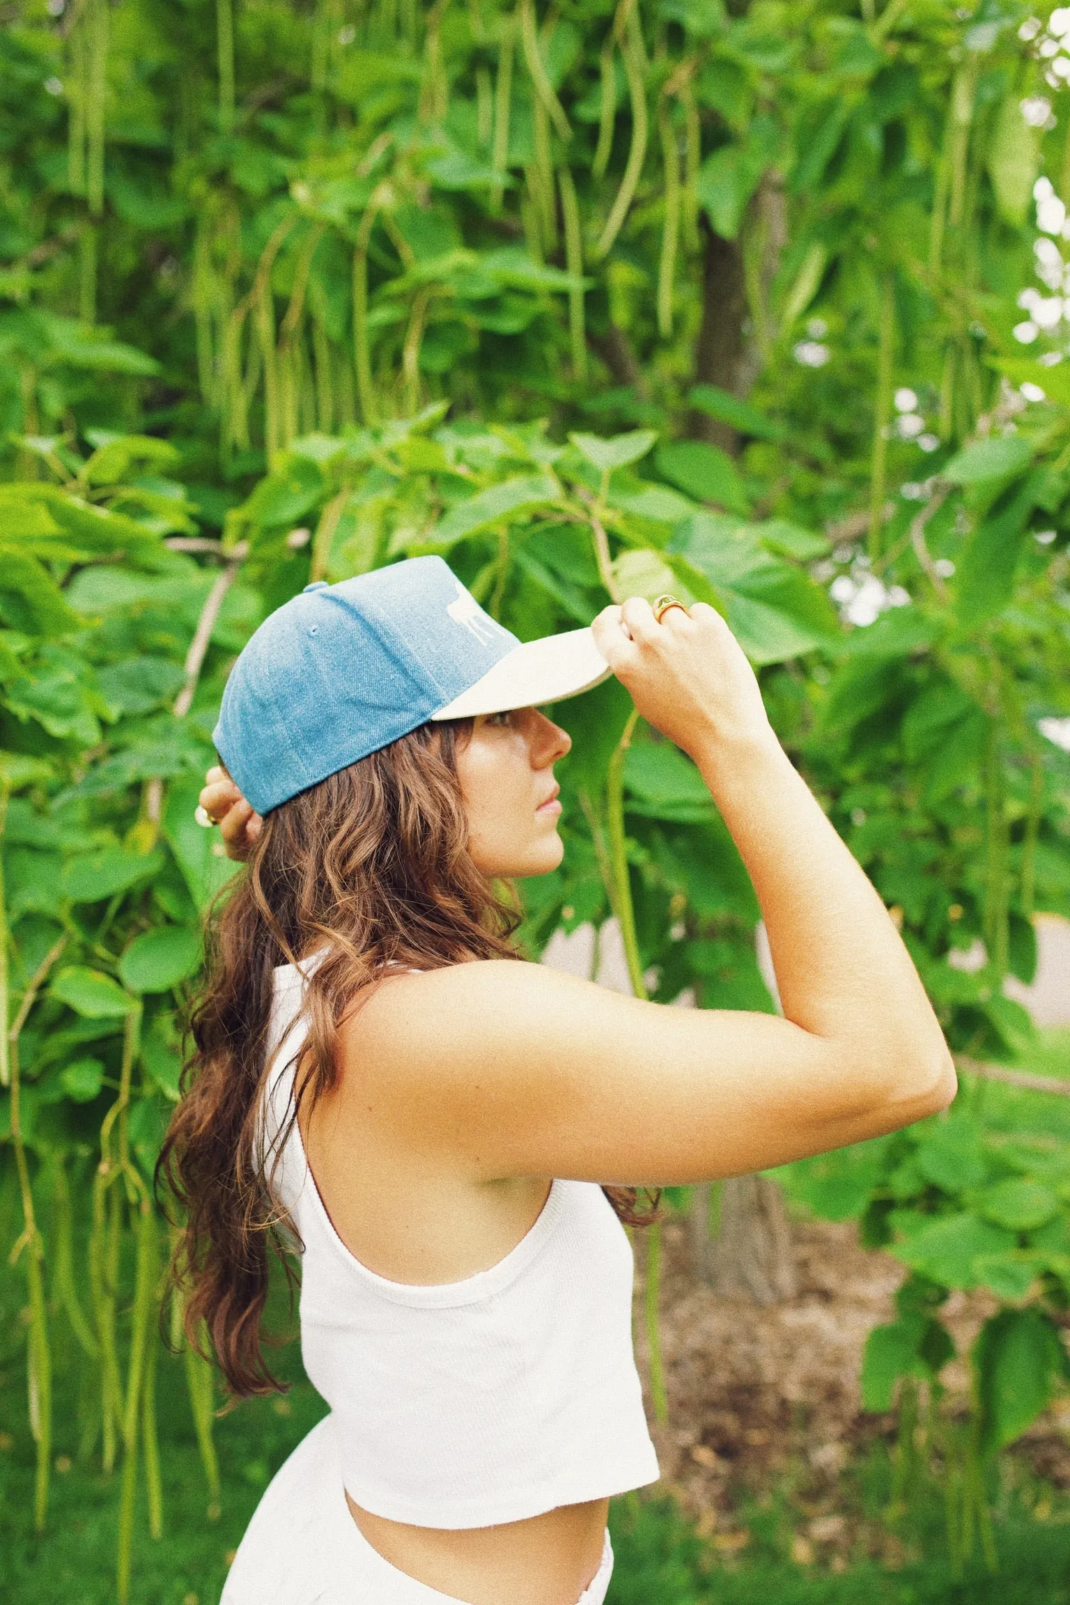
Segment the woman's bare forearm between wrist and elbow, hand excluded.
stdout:
[[751,875],[784,1016],[950,1074],[943,1034],[884,904],[772,730],[695,758]]

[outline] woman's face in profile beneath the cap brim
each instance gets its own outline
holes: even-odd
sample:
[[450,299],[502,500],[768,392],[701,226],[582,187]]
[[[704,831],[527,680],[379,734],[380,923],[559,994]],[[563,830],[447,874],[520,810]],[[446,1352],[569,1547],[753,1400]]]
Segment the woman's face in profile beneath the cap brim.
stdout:
[[553,764],[573,745],[536,708],[480,714],[457,742],[468,852],[483,875],[545,875],[561,862]]

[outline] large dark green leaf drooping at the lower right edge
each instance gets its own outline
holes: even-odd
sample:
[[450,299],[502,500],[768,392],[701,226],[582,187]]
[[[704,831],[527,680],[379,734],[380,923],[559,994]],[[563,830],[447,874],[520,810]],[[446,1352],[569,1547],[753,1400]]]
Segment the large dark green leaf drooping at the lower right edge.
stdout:
[[1059,1332],[1040,1310],[1001,1310],[971,1351],[980,1401],[980,1443],[995,1454],[1020,1438],[1067,1375]]

